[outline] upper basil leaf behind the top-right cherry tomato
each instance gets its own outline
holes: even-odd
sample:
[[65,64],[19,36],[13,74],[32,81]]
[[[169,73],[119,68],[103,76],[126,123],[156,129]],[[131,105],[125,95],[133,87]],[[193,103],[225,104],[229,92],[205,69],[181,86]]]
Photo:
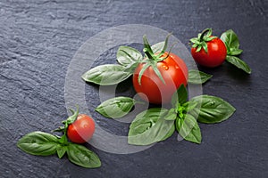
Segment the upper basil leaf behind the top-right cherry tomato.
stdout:
[[239,38],[232,29],[222,33],[221,39],[229,48],[239,49]]

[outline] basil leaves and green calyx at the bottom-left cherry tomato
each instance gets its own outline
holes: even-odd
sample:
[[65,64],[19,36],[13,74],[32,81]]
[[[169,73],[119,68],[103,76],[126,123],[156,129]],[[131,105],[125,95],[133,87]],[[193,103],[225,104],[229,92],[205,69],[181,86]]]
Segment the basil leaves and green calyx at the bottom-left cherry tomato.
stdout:
[[58,158],[63,158],[67,153],[68,159],[78,165],[87,168],[96,168],[101,166],[101,161],[92,150],[88,150],[85,146],[69,142],[67,138],[68,125],[73,123],[78,115],[79,108],[72,112],[71,117],[63,120],[63,125],[54,132],[63,132],[62,136],[48,134],[44,132],[32,132],[24,135],[18,142],[17,146],[31,155],[50,156],[57,154]]

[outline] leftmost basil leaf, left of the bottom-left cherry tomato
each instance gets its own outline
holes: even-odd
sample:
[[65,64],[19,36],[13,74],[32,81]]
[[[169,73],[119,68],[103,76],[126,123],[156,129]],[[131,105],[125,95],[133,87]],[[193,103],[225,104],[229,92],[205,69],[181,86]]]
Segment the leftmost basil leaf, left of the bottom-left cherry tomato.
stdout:
[[55,154],[58,144],[59,142],[56,136],[43,132],[26,134],[17,142],[17,146],[21,150],[31,155],[39,156]]

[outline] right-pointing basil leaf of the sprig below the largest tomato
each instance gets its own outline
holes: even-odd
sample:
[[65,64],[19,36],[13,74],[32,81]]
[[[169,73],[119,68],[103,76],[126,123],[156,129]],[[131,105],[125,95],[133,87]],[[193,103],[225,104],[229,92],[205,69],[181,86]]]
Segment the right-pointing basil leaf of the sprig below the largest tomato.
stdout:
[[211,95],[196,96],[190,101],[198,103],[200,110],[195,110],[193,115],[197,117],[198,122],[205,124],[220,123],[228,119],[236,110],[227,101]]

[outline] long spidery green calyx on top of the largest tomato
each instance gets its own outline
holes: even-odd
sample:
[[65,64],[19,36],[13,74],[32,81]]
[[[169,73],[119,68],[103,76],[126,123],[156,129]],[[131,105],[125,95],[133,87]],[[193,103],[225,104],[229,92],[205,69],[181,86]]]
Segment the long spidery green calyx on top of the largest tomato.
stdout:
[[144,65],[138,74],[138,84],[139,85],[141,85],[142,75],[144,74],[146,69],[148,69],[149,67],[152,67],[154,69],[157,77],[159,77],[161,79],[161,81],[163,82],[163,84],[165,85],[165,81],[164,81],[159,69],[157,69],[156,64],[157,64],[157,62],[163,61],[169,57],[169,54],[170,54],[174,44],[172,44],[172,47],[171,47],[169,53],[167,53],[167,55],[164,55],[164,53],[165,53],[165,50],[167,49],[168,40],[169,40],[169,37],[171,35],[172,34],[170,33],[168,36],[166,36],[164,44],[163,44],[163,48],[162,48],[160,53],[154,53],[152,48],[151,48],[151,45],[149,44],[149,42],[147,40],[147,36],[146,35],[143,36],[143,43],[144,43],[143,52],[145,53],[145,59],[143,61],[140,61],[140,63],[144,63]]

